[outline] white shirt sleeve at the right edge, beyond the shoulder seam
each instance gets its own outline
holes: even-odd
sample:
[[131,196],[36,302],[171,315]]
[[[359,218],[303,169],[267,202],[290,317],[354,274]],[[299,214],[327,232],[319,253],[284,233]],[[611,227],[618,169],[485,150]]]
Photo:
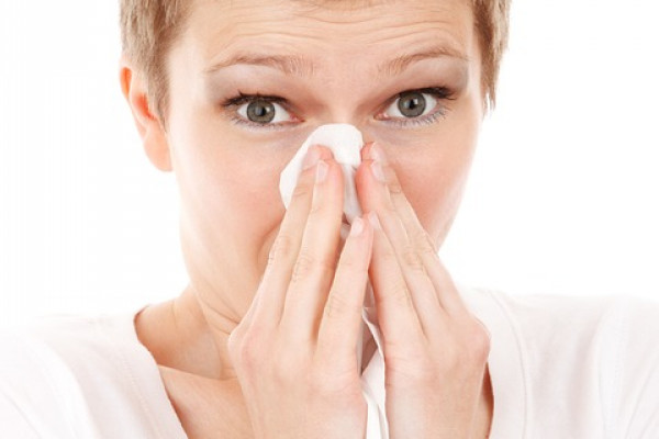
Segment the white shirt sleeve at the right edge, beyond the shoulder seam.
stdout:
[[602,394],[607,438],[659,435],[659,302],[622,300],[606,338]]

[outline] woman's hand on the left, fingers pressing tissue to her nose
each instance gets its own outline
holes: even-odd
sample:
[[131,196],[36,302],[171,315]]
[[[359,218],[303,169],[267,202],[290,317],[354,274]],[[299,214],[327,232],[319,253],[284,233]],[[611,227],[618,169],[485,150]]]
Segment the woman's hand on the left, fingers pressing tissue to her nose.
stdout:
[[252,306],[228,339],[256,438],[365,437],[356,352],[373,233],[356,218],[337,262],[342,215],[340,166],[313,146]]

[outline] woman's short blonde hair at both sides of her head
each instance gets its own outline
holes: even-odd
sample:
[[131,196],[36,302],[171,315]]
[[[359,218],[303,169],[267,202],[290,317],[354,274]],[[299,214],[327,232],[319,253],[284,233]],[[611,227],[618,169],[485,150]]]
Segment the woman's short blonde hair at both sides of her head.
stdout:
[[[470,0],[481,49],[483,105],[493,109],[507,47],[511,0]],[[122,53],[146,82],[149,110],[167,126],[167,55],[186,30],[193,0],[120,0]]]

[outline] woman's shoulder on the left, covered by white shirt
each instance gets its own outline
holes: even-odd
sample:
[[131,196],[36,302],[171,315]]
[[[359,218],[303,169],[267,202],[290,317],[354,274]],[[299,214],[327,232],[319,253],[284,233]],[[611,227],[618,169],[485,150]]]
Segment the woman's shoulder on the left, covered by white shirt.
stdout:
[[0,419],[14,437],[146,432],[166,401],[159,386],[129,314],[47,317],[0,335]]

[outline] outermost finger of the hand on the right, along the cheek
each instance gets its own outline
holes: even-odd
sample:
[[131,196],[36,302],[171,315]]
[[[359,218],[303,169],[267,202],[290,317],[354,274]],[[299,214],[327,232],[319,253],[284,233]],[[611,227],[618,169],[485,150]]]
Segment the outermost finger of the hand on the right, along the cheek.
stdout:
[[449,315],[463,315],[463,313],[468,312],[467,305],[460,297],[450,274],[442,263],[435,243],[418,221],[414,209],[405,196],[398,176],[387,160],[384,151],[378,145],[370,144],[365,155],[376,158],[381,162],[391,203],[395,206],[395,211],[403,223],[412,247],[416,249],[416,254],[421,258],[425,271],[435,286],[435,292],[442,307]]

